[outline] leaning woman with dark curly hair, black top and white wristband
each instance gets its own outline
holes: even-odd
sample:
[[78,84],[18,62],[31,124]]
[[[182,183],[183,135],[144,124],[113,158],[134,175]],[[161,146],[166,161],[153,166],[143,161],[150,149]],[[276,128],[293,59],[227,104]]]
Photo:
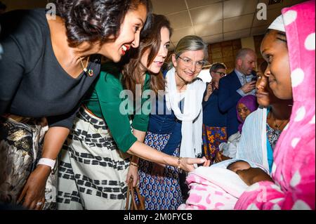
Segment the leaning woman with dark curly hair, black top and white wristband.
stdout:
[[151,10],[150,0],[57,0],[55,6],[56,15],[36,9],[0,17],[0,141],[12,146],[15,164],[0,194],[28,209],[54,202],[55,179],[48,176],[98,77],[100,55],[118,62],[137,48]]

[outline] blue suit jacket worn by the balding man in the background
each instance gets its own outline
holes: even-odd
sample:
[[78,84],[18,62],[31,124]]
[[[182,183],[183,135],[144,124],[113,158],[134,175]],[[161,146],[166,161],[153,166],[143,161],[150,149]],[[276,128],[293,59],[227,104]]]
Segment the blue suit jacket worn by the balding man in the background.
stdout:
[[238,131],[237,103],[242,95],[237,89],[242,87],[235,71],[220,79],[218,88],[218,108],[221,112],[227,112],[228,137]]

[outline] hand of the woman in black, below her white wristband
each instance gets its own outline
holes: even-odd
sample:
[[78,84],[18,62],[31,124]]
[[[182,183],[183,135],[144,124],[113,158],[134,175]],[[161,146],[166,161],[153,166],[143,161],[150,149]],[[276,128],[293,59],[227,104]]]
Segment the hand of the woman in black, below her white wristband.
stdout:
[[25,208],[41,210],[45,202],[46,181],[50,173],[50,166],[37,166],[37,169],[29,175],[27,183],[18,198],[18,204],[24,199],[22,206]]

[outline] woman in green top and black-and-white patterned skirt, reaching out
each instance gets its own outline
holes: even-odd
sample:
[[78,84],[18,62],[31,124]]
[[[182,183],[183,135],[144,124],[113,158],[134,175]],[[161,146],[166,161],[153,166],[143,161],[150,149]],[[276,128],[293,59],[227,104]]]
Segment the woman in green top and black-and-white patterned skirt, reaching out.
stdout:
[[58,209],[124,209],[127,180],[133,176],[134,185],[138,180],[138,157],[186,171],[193,169],[192,164],[204,162],[171,157],[143,144],[150,110],[129,116],[121,107],[124,88],[133,98],[141,95],[136,85],[142,86],[142,92],[164,90],[160,70],[168,53],[171,27],[163,15],[150,19],[152,27],[144,28],[140,48],[131,53],[122,70],[103,66],[75,119],[61,154]]

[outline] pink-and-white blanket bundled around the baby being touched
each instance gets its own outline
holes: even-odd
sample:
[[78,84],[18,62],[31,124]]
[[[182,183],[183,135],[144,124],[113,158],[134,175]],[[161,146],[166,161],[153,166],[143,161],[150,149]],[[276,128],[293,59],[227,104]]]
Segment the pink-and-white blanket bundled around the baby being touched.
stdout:
[[200,166],[187,176],[190,196],[179,210],[230,210],[248,185],[237,171],[263,166],[241,159],[229,159],[212,166]]

